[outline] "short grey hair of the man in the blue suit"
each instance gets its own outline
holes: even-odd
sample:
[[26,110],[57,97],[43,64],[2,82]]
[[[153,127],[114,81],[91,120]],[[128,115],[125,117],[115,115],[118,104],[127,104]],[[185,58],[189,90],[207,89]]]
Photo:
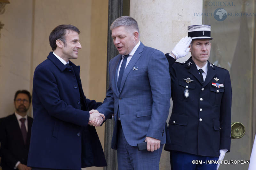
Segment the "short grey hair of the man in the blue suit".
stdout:
[[110,25],[110,30],[119,26],[133,28],[137,32],[139,32],[139,26],[137,21],[134,18],[129,16],[122,16],[122,17],[116,18],[116,20]]

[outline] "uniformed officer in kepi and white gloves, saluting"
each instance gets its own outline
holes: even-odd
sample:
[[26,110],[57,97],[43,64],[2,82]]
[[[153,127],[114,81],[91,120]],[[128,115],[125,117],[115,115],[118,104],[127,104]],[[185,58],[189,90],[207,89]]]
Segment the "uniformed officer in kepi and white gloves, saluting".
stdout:
[[[165,54],[173,108],[171,143],[164,149],[171,151],[172,170],[216,170],[216,162],[230,151],[230,76],[228,70],[208,61],[211,39],[210,25],[188,26],[188,37],[182,38],[171,54]],[[175,62],[188,51],[191,57],[185,63]],[[193,160],[202,160],[202,164]]]

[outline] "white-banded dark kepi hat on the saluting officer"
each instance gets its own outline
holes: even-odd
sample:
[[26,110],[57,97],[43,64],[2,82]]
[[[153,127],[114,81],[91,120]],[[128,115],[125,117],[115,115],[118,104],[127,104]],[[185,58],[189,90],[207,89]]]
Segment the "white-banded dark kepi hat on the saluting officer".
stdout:
[[211,25],[188,26],[188,37],[191,39],[213,39],[211,38]]

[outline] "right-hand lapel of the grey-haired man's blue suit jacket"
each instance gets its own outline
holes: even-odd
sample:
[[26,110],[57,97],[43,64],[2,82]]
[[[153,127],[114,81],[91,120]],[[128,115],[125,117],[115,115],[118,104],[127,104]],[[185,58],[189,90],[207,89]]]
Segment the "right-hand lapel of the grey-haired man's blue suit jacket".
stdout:
[[137,48],[134,55],[132,56],[132,59],[128,63],[127,67],[124,69],[124,74],[123,74],[123,78],[122,78],[121,85],[120,85],[120,92],[122,91],[122,89],[124,87],[124,83],[126,81],[128,74],[130,73],[133,66],[139,60],[140,56],[142,55],[143,48],[144,48],[144,45],[140,42],[140,46]]

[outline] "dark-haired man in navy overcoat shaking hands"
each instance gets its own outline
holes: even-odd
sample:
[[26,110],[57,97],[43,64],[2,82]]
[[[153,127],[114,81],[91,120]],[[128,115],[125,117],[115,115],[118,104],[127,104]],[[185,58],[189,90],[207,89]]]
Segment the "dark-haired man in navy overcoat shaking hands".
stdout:
[[89,111],[101,103],[86,99],[76,59],[80,31],[59,25],[49,36],[53,52],[39,64],[33,80],[33,115],[28,166],[32,169],[74,169],[107,166],[93,126],[103,114]]

